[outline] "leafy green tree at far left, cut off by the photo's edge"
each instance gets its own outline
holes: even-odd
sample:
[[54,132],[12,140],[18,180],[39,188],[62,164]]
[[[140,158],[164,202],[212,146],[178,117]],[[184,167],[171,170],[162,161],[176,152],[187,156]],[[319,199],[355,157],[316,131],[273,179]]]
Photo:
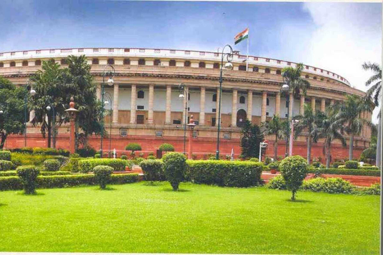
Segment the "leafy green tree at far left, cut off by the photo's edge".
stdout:
[[9,80],[0,77],[0,149],[8,134],[24,131],[24,98],[27,90],[16,88]]

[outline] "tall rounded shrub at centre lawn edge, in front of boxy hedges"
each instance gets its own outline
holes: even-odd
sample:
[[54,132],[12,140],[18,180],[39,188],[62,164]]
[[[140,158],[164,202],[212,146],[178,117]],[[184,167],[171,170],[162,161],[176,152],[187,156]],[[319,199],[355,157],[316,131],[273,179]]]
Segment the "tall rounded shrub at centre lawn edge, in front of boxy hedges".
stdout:
[[163,168],[166,179],[170,182],[173,190],[178,190],[180,182],[184,180],[186,170],[186,157],[179,152],[171,152],[163,157]]

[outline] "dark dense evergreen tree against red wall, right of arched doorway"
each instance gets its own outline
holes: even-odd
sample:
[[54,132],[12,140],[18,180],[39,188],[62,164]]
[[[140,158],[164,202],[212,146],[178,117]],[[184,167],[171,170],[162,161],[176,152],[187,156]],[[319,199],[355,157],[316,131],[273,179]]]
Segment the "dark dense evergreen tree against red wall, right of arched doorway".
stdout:
[[241,155],[244,158],[259,157],[259,143],[263,141],[263,134],[257,125],[246,120],[241,129]]

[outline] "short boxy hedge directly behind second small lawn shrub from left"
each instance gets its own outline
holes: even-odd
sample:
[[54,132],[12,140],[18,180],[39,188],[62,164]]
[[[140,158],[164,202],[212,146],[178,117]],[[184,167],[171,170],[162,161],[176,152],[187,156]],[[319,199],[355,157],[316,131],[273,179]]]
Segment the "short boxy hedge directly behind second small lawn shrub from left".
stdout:
[[113,168],[113,171],[125,171],[127,160],[119,158],[90,158],[82,159],[78,162],[79,170],[82,173],[88,173],[93,170],[95,166],[107,165]]

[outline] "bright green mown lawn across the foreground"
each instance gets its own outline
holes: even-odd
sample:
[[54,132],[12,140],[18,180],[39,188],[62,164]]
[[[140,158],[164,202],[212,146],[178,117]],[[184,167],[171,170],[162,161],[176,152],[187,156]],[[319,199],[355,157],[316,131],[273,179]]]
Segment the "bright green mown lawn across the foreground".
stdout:
[[140,182],[0,192],[0,251],[378,254],[379,196]]

